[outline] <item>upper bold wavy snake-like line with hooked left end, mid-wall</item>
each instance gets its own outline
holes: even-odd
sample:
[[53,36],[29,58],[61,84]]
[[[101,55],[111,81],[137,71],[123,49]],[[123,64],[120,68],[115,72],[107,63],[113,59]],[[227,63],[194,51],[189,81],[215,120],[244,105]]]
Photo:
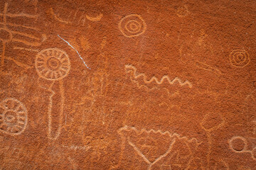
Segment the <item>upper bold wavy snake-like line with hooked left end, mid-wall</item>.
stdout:
[[161,77],[160,80],[158,80],[156,77],[151,77],[151,79],[147,80],[146,75],[144,73],[137,73],[137,68],[132,65],[125,65],[124,69],[126,73],[132,73],[131,79],[138,80],[140,77],[142,77],[145,84],[151,84],[152,82],[155,82],[156,84],[160,85],[163,84],[166,80],[166,82],[168,82],[170,85],[178,83],[180,86],[187,85],[189,88],[192,88],[193,86],[188,80],[181,81],[181,79],[179,79],[178,77],[175,77],[173,80],[171,80],[170,77],[167,75]]

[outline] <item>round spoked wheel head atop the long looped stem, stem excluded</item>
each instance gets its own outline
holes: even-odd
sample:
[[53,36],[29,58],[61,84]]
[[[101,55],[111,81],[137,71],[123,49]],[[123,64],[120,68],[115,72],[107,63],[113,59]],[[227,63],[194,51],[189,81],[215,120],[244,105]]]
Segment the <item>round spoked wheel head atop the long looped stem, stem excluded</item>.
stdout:
[[63,79],[70,71],[67,53],[58,48],[48,48],[36,55],[36,72],[39,77],[48,80]]

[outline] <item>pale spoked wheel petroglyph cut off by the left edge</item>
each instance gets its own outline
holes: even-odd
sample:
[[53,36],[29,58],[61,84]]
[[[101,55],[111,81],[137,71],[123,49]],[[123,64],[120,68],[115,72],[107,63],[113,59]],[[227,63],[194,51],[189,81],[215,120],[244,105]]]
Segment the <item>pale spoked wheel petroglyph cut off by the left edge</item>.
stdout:
[[16,98],[6,98],[0,103],[0,132],[21,135],[28,123],[26,107]]

